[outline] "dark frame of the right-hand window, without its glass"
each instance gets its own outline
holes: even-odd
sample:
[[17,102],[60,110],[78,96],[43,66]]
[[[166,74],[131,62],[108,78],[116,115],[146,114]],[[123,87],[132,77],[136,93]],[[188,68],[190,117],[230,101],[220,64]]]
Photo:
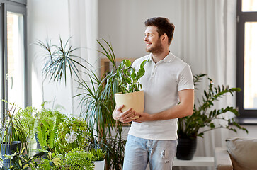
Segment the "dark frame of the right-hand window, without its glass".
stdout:
[[241,5],[243,0],[237,0],[236,8],[236,86],[241,91],[236,94],[236,107],[239,110],[239,123],[257,124],[257,109],[244,109],[244,30],[245,23],[256,21],[256,12],[243,12]]

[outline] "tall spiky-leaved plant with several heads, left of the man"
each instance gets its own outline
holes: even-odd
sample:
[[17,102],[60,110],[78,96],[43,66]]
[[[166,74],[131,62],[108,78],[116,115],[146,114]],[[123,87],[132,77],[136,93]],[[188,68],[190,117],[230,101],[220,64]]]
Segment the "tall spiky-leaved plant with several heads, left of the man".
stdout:
[[[98,40],[97,40],[98,41]],[[122,162],[124,157],[124,149],[126,140],[122,139],[122,123],[116,123],[112,118],[112,112],[115,108],[114,94],[118,92],[118,81],[115,78],[115,72],[118,69],[115,62],[115,55],[113,52],[113,47],[110,43],[103,40],[103,43],[98,41],[103,51],[98,51],[110,60],[113,67],[109,70],[106,77],[98,77],[95,70],[86,69],[81,67],[76,60],[80,57],[75,57],[76,60],[72,62],[67,62],[70,58],[75,59],[72,53],[76,50],[69,46],[69,43],[62,45],[60,38],[60,45],[52,45],[51,41],[38,42],[38,45],[43,47],[45,50],[45,59],[47,60],[45,67],[43,69],[43,74],[50,77],[52,81],[60,81],[62,77],[66,77],[66,72],[64,69],[74,72],[78,71],[76,66],[84,68],[86,74],[88,75],[89,81],[83,81],[79,79],[79,88],[81,89],[81,94],[77,94],[77,97],[81,97],[81,115],[87,120],[88,127],[91,129],[90,132],[93,135],[93,127],[96,127],[96,133],[98,137],[93,137],[88,142],[91,145],[98,145],[106,152],[105,167],[106,169],[122,169]],[[106,45],[106,47],[103,47]],[[57,52],[53,50],[57,47]],[[55,53],[56,56],[53,56]],[[59,55],[59,53],[61,55]],[[64,55],[62,55],[62,53]],[[59,60],[56,60],[58,59]],[[85,61],[86,62],[86,61]],[[89,64],[90,65],[90,64]],[[74,68],[74,69],[72,69]],[[75,74],[79,78],[79,72]],[[112,132],[117,132],[113,135]]]

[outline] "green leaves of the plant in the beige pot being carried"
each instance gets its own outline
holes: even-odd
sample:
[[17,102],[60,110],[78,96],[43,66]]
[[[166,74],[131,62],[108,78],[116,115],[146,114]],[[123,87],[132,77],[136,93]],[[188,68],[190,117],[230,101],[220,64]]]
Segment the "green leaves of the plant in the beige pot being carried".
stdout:
[[139,70],[136,71],[130,60],[122,60],[115,75],[122,94],[140,91],[142,84],[140,84],[139,79],[144,76],[144,65],[147,62],[149,62],[149,59],[144,60],[140,64]]

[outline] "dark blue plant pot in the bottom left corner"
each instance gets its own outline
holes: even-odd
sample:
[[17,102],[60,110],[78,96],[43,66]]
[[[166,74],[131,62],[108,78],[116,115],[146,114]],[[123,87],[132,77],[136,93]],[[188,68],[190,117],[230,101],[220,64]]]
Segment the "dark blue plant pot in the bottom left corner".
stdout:
[[8,144],[6,142],[1,143],[1,155],[3,159],[3,169],[9,169],[12,165],[13,162],[11,162],[11,159],[5,159],[6,157],[4,156],[5,154],[11,155],[14,152],[16,152],[18,149],[21,149],[21,142],[20,141],[13,141]]

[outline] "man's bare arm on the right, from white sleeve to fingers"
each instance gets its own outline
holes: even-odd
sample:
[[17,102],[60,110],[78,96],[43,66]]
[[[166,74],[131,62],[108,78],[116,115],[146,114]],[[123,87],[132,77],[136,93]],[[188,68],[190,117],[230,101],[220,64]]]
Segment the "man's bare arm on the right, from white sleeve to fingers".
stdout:
[[192,115],[194,106],[194,89],[178,91],[178,96],[180,101],[178,105],[155,114],[135,113],[135,115],[139,115],[140,117],[133,121],[140,123],[154,120],[169,120]]

